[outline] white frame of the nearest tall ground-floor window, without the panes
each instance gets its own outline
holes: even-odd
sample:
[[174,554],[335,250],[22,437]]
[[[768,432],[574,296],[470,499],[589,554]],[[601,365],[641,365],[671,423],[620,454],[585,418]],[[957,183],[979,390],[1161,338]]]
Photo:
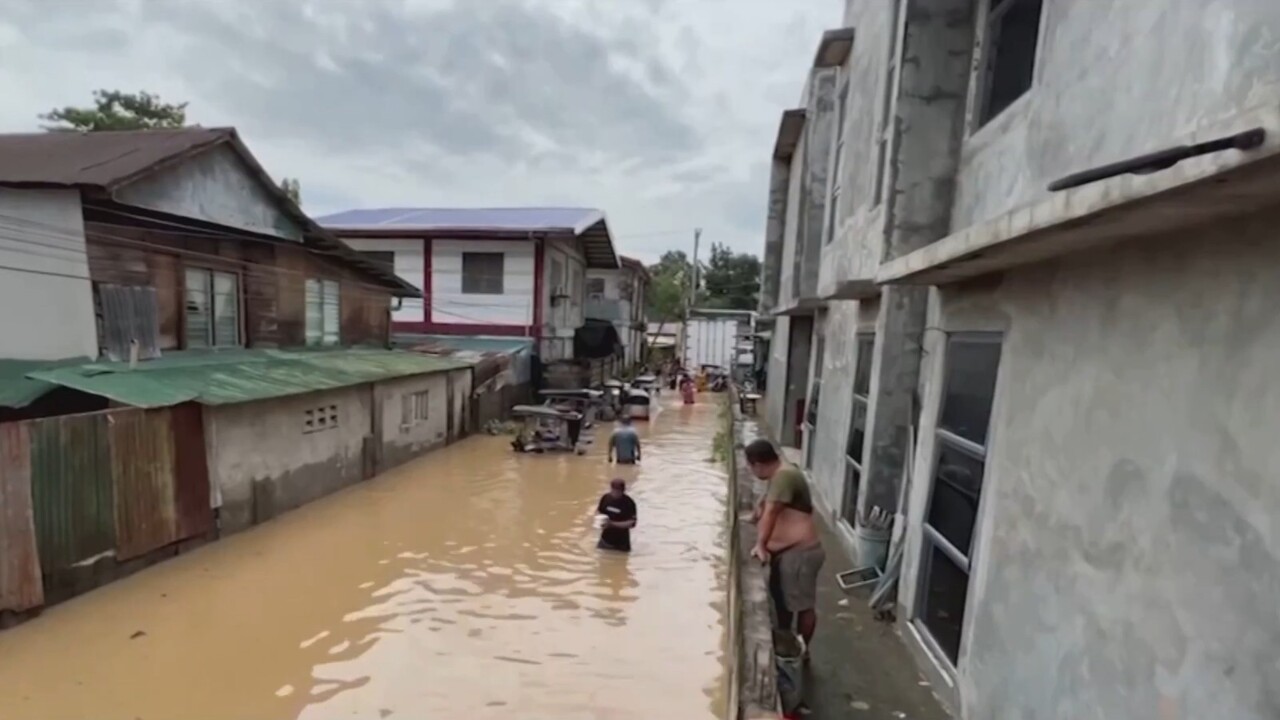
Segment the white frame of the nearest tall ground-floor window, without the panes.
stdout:
[[[963,653],[966,642],[965,628],[964,628],[965,618],[973,610],[972,607],[968,606],[968,600],[970,591],[973,589],[972,585],[973,565],[978,551],[978,530],[982,523],[982,486],[986,482],[987,457],[989,455],[989,448],[992,442],[991,424],[992,424],[992,418],[995,416],[996,395],[1000,391],[1000,365],[1004,360],[1004,341],[1005,341],[1004,333],[998,332],[955,332],[947,334],[947,341],[945,345],[946,348],[942,352],[943,382],[941,388],[942,392],[938,396],[938,405],[936,409],[937,414],[934,419],[934,432],[933,432],[934,442],[932,448],[932,459],[929,460],[929,475],[928,475],[929,492],[927,496],[923,512],[920,514],[920,548],[918,555],[919,564],[916,566],[918,589],[911,607],[911,625],[914,626],[919,637],[923,638],[924,642],[928,644],[929,652],[937,660],[948,664],[952,671],[956,667],[956,662],[959,661],[959,657]],[[947,388],[948,383],[946,378],[948,375],[951,368],[950,364],[952,361],[951,359],[951,350],[954,348],[952,343],[956,345],[991,343],[996,345],[1001,350],[1000,355],[997,355],[996,357],[996,366],[992,369],[995,377],[991,393],[991,406],[987,410],[987,433],[986,433],[986,439],[982,445],[969,438],[960,437],[942,427],[942,416],[948,392]],[[983,464],[983,477],[979,479],[978,500],[977,500],[977,507],[974,510],[974,527],[972,530],[973,536],[969,542],[969,548],[965,551],[961,551],[960,548],[955,547],[955,544],[950,539],[947,539],[940,530],[934,529],[929,524],[929,512],[932,511],[933,496],[937,484],[938,461],[941,459],[943,447],[956,451],[961,455],[968,455],[969,457],[978,460],[979,462]],[[964,615],[961,615],[960,618],[960,638],[956,644],[955,657],[952,657],[951,653],[943,650],[942,643],[934,637],[933,630],[929,629],[924,616],[925,611],[928,610],[927,600],[929,596],[929,571],[932,569],[932,562],[933,562],[932,551],[934,548],[941,551],[942,555],[945,555],[946,559],[950,562],[952,562],[966,577],[965,589],[964,589],[965,611]]]

